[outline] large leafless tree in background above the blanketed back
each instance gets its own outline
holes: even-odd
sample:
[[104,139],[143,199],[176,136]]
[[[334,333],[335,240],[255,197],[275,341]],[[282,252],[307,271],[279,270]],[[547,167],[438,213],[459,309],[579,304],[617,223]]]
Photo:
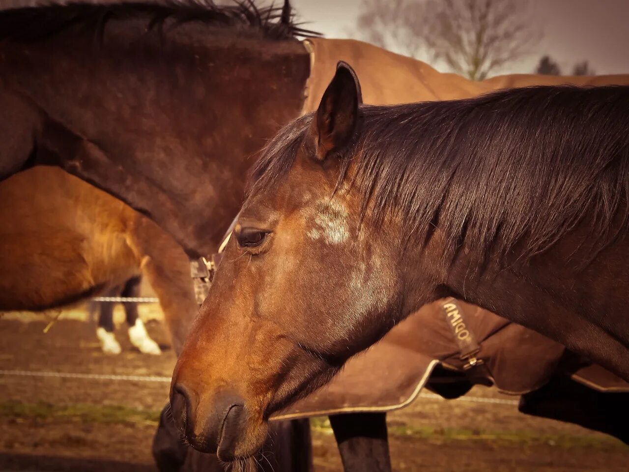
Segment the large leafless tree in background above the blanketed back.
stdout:
[[[482,80],[521,59],[537,42],[524,0],[364,0],[359,34],[382,47]],[[392,47],[394,44],[396,47]]]

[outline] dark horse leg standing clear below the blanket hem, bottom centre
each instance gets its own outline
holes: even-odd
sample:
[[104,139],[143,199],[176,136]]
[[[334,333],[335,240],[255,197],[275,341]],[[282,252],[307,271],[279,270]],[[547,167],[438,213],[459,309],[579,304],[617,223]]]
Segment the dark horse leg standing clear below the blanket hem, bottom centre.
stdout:
[[331,415],[345,472],[391,472],[386,413]]

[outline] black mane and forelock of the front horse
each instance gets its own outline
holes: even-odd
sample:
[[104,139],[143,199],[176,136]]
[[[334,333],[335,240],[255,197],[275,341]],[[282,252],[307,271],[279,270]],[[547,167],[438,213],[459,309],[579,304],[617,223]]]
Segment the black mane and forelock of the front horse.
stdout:
[[[360,131],[343,154],[362,215],[404,218],[413,240],[437,226],[452,249],[487,254],[518,247],[526,259],[593,212],[599,250],[629,215],[629,87],[537,86],[479,98],[362,106]],[[269,143],[253,191],[291,168],[312,115]],[[434,225],[434,226],[433,226]]]

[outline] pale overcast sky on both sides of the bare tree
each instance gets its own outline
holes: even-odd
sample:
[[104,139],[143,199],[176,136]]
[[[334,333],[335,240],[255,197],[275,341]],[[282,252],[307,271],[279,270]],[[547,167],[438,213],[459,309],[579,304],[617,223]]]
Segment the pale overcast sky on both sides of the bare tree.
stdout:
[[[421,1],[421,0],[420,0]],[[355,35],[362,0],[292,0],[306,27],[328,38]],[[542,55],[564,73],[587,60],[596,74],[629,74],[629,0],[532,0],[531,15],[542,28],[535,52],[508,72],[533,72]]]

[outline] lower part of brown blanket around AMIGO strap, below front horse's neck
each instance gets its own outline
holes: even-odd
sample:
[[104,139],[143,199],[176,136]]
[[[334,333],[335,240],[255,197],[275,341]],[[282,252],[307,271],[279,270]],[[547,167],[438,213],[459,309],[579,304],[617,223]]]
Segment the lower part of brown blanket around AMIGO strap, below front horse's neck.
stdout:
[[438,364],[465,374],[473,383],[495,385],[522,395],[564,374],[599,391],[626,391],[629,385],[603,368],[581,359],[565,362],[564,346],[521,325],[457,300],[459,326],[479,345],[481,365],[465,369],[452,330],[446,300],[426,305],[399,323],[380,342],[352,357],[330,384],[276,415],[297,418],[340,412],[386,412],[413,402]]

